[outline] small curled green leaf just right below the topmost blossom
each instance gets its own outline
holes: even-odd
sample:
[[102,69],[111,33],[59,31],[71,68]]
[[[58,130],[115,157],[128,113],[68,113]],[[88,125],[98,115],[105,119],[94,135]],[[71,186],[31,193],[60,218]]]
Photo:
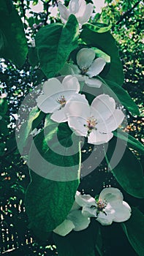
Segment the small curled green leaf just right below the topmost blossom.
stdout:
[[83,25],[82,29],[90,29],[91,31],[97,33],[105,33],[111,29],[111,25],[107,25],[105,23],[86,23]]

